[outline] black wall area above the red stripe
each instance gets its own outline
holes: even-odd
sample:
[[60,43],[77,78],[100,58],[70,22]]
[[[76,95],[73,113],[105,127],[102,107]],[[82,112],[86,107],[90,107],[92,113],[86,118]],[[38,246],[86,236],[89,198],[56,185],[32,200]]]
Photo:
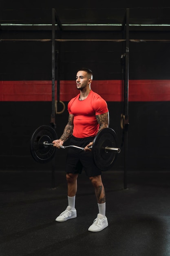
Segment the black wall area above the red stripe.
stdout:
[[[51,39],[51,31],[0,31],[4,39]],[[121,31],[63,31],[63,39],[113,39],[123,38]],[[170,79],[169,31],[130,31],[129,79]],[[151,41],[147,41],[151,40]],[[75,71],[90,67],[95,80],[121,79],[121,55],[125,53],[121,42],[62,42],[60,50],[60,79],[74,80]],[[1,41],[1,80],[51,80],[51,50],[49,41]]]

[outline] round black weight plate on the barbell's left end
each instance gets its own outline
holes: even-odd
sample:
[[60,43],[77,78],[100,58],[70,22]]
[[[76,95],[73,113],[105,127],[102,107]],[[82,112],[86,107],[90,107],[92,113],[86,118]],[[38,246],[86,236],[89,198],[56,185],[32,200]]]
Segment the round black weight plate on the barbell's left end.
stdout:
[[57,139],[57,133],[51,126],[43,125],[33,132],[30,150],[36,162],[46,163],[54,157],[56,147],[43,144],[44,141],[52,143],[54,139]]

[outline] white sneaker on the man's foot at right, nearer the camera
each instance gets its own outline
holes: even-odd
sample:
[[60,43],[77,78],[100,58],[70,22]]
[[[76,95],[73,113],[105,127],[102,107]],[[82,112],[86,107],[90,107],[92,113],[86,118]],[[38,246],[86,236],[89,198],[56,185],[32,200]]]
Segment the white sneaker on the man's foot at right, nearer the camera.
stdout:
[[97,218],[93,221],[93,224],[88,228],[88,231],[98,232],[108,226],[108,220],[106,216],[98,213]]

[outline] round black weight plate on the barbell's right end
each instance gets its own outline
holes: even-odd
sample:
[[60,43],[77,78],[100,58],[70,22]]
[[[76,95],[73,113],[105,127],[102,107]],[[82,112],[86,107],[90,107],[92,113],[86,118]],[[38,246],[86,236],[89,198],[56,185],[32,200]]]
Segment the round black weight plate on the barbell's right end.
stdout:
[[93,141],[93,157],[96,166],[101,171],[108,171],[114,164],[117,158],[117,153],[113,150],[107,152],[106,147],[117,148],[117,135],[111,128],[100,130]]

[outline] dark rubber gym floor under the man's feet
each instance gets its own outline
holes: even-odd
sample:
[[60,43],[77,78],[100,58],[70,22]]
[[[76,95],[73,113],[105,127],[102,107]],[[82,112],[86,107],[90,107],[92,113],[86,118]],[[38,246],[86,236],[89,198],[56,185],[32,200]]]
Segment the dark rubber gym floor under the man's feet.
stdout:
[[170,172],[102,173],[108,227],[97,216],[93,187],[78,177],[77,218],[56,222],[67,206],[65,172],[0,171],[0,256],[169,256]]

